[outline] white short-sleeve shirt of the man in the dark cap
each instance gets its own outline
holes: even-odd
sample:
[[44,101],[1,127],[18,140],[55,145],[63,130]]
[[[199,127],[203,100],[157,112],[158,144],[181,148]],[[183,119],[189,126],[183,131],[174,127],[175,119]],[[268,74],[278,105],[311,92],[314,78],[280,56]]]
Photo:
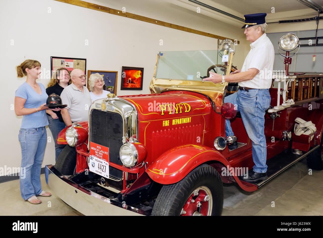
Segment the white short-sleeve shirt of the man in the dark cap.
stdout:
[[238,85],[249,88],[270,88],[275,58],[274,46],[266,33],[264,33],[261,37],[251,43],[250,47],[251,49],[245,58],[241,72],[256,68],[259,70],[259,73],[253,79],[239,82]]

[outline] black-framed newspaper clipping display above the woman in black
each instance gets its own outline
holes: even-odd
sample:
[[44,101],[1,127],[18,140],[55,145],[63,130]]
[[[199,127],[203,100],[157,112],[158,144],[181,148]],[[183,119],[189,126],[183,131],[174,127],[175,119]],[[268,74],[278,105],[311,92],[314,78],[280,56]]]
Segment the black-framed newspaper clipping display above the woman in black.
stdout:
[[52,75],[58,68],[66,68],[69,72],[73,69],[81,69],[86,74],[86,59],[51,56],[50,68]]

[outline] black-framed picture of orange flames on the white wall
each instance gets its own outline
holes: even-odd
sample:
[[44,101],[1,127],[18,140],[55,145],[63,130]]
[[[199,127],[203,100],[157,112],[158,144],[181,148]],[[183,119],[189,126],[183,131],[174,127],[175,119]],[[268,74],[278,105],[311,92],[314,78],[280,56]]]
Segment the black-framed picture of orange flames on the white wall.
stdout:
[[122,66],[120,90],[142,90],[143,68]]

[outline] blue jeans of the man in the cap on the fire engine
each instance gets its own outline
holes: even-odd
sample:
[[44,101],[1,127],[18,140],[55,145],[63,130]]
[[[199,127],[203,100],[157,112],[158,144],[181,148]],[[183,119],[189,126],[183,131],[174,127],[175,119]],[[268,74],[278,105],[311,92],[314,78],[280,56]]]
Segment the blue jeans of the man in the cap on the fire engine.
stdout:
[[[226,96],[224,103],[234,104],[240,111],[242,122],[252,141],[252,158],[256,173],[267,171],[267,144],[265,136],[265,110],[270,106],[271,97],[268,89],[249,89],[249,92],[238,90],[234,94]],[[230,120],[225,120],[226,136],[234,135]]]

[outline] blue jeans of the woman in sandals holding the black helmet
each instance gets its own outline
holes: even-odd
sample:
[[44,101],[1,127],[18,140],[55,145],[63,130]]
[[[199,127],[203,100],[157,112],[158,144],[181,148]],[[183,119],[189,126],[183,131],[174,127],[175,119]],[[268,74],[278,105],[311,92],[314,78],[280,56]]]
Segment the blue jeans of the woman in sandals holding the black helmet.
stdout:
[[21,146],[21,168],[25,174],[20,173],[21,197],[26,200],[42,192],[40,183],[41,163],[44,159],[47,133],[45,127],[19,130]]

